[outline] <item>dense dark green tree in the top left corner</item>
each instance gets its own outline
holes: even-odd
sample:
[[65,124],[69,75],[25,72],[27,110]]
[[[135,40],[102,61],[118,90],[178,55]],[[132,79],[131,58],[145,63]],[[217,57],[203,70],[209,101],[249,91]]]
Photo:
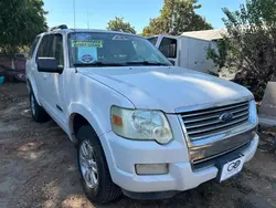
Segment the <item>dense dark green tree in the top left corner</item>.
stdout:
[[14,53],[47,29],[42,0],[0,1],[0,50]]

